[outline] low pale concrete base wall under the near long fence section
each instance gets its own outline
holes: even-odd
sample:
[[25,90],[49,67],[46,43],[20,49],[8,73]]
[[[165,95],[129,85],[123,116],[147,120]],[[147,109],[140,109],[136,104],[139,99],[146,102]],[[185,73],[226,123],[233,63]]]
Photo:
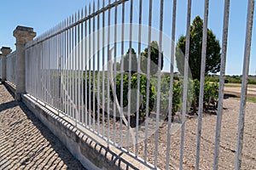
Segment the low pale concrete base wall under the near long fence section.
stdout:
[[141,161],[109,146],[105,140],[90,130],[75,125],[66,116],[54,113],[27,94],[21,95],[23,103],[57,136],[67,149],[88,169],[150,169]]

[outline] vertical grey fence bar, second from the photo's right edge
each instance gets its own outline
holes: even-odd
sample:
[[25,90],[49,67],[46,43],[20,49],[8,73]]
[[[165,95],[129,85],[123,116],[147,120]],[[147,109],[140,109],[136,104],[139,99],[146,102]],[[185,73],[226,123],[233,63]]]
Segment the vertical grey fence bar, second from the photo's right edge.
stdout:
[[218,114],[217,114],[217,124],[216,124],[216,133],[215,133],[215,150],[214,150],[214,158],[213,158],[213,170],[218,170],[218,153],[219,153],[220,130],[221,130],[222,113],[223,113],[224,75],[225,75],[225,69],[226,69],[229,17],[230,17],[230,0],[225,0],[221,65],[220,65],[219,88],[218,88]]

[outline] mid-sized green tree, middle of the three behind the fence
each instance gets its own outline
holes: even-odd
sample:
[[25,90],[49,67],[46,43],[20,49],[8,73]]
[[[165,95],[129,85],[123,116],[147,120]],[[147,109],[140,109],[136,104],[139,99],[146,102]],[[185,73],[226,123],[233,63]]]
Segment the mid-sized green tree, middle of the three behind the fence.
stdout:
[[[160,66],[160,70],[163,69],[164,66],[164,55],[161,53],[161,64],[158,65],[159,59],[159,46],[156,41],[150,43],[150,75],[154,75],[157,70],[158,66]],[[141,53],[142,55],[142,62],[141,62],[141,69],[142,71],[147,74],[147,65],[148,65],[148,48],[145,48],[144,51]]]

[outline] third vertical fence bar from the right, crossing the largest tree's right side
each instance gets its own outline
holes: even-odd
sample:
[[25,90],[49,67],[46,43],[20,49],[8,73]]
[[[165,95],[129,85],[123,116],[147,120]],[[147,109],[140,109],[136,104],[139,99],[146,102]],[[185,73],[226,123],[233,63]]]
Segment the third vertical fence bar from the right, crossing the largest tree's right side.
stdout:
[[195,170],[199,169],[199,160],[200,160],[201,116],[202,116],[202,112],[203,112],[206,56],[207,56],[208,11],[209,11],[209,0],[205,0],[204,24],[203,24],[203,35],[202,35],[202,47],[201,47],[201,79],[200,79],[198,124],[197,124],[197,136],[196,136]]

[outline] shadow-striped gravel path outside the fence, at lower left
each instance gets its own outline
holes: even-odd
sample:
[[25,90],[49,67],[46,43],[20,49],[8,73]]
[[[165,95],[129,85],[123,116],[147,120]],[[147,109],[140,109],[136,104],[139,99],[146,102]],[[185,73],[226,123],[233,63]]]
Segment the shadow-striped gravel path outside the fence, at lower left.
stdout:
[[0,83],[0,169],[84,169]]

